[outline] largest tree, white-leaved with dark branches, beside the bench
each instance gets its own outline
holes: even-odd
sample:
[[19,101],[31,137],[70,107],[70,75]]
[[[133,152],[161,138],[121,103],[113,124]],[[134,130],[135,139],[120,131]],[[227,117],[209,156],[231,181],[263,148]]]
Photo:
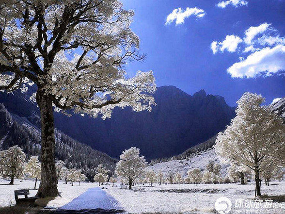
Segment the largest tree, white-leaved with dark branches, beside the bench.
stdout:
[[[37,195],[58,196],[56,111],[110,117],[115,106],[151,110],[152,72],[127,79],[124,64],[143,60],[118,0],[0,0],[0,90],[36,84],[42,174]],[[69,111],[68,111],[69,110]]]

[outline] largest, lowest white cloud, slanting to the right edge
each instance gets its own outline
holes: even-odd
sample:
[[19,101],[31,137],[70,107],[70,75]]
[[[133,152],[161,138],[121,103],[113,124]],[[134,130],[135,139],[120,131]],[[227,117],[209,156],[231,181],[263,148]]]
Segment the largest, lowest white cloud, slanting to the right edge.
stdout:
[[269,76],[279,71],[285,71],[285,46],[278,45],[274,48],[267,47],[255,51],[245,60],[229,67],[227,71],[233,78]]

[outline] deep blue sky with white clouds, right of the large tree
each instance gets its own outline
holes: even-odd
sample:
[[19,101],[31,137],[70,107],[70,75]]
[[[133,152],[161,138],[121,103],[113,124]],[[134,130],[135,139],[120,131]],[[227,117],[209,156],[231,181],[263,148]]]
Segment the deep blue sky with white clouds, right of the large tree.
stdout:
[[285,97],[285,0],[122,1],[147,54],[127,65],[130,75],[153,70],[158,86],[205,89],[230,106],[245,91],[267,104]]

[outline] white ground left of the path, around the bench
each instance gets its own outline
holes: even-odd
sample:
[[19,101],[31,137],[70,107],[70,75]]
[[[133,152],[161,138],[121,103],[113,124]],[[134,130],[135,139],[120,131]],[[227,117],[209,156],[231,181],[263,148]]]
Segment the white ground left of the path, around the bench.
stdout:
[[[0,207],[13,206],[16,204],[14,197],[14,190],[19,189],[30,189],[30,197],[34,196],[37,193],[37,190],[32,190],[34,187],[34,181],[25,181],[15,180],[15,185],[3,185],[7,184],[9,181],[0,179]],[[37,183],[37,187],[39,182]],[[74,183],[74,186],[71,186],[69,183],[65,184],[63,181],[60,181],[58,184],[58,190],[61,193],[61,197],[57,197],[54,200],[51,200],[47,204],[47,208],[60,208],[64,204],[67,204],[74,198],[77,198],[79,195],[84,193],[87,189],[92,187],[97,187],[97,183],[86,183],[78,182]]]

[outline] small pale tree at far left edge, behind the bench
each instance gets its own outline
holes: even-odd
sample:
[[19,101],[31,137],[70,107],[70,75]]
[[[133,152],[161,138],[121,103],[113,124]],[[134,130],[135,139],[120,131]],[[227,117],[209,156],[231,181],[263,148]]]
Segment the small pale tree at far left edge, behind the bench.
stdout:
[[14,184],[14,178],[21,178],[25,169],[26,155],[18,146],[0,151],[0,175],[11,178],[9,184]]

